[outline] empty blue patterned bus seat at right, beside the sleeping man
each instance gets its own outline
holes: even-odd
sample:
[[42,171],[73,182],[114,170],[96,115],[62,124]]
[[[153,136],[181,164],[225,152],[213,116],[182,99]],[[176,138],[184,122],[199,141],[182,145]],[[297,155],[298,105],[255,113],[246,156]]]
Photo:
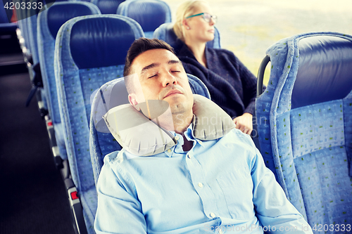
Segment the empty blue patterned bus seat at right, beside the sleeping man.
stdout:
[[352,37],[299,34],[267,54],[256,100],[267,167],[311,226],[352,223]]

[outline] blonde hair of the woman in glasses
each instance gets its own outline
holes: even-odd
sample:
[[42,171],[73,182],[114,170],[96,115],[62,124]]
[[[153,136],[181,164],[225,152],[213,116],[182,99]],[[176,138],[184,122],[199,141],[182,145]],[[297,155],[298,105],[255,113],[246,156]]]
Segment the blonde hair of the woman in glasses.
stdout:
[[191,16],[196,11],[196,8],[201,5],[206,4],[208,5],[207,1],[203,0],[189,0],[184,1],[176,11],[176,22],[173,27],[176,36],[181,40],[184,41],[184,28],[182,27],[182,21],[184,18]]

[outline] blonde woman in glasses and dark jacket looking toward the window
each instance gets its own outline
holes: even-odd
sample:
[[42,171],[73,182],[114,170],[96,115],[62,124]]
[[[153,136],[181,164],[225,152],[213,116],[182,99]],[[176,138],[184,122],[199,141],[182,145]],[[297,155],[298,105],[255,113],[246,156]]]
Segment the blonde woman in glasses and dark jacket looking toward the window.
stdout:
[[231,51],[206,47],[206,42],[214,39],[216,21],[206,1],[182,3],[173,27],[184,42],[177,56],[187,73],[206,84],[212,100],[232,117],[237,129],[251,134],[256,77]]

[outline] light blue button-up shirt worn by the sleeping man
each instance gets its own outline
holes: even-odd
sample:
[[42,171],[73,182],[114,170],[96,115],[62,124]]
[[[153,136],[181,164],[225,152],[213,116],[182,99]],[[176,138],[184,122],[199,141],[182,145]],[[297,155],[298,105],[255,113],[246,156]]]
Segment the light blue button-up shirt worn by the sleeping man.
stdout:
[[96,233],[312,233],[265,167],[251,138],[233,129],[213,141],[158,155],[126,150],[104,159]]

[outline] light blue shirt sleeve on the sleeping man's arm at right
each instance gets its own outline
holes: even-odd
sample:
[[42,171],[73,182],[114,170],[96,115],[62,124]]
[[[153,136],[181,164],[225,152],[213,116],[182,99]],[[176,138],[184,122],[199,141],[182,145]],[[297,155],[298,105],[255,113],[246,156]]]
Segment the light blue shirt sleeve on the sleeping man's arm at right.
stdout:
[[253,204],[263,230],[268,233],[313,233],[303,216],[287,200],[272,171],[265,167],[258,149],[251,163]]

